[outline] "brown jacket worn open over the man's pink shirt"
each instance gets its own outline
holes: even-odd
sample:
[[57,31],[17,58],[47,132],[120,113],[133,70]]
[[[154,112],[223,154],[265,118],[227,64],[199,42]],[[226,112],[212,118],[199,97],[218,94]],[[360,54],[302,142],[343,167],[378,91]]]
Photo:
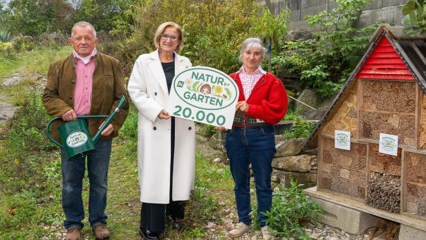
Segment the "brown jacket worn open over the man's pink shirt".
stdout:
[[[75,57],[71,54],[50,64],[46,89],[44,89],[41,100],[48,115],[52,117],[60,118],[64,113],[74,108],[74,89],[77,81],[75,63]],[[103,140],[118,136],[118,129],[122,127],[129,113],[129,96],[124,84],[120,62],[98,52],[95,55],[90,115],[110,115],[122,95],[126,98],[127,103],[118,111],[111,122],[114,132],[110,136],[102,136],[101,139]],[[89,131],[92,137],[104,120],[104,118],[89,120]],[[57,127],[63,123],[62,120],[57,120],[51,127],[51,135],[59,142]]]

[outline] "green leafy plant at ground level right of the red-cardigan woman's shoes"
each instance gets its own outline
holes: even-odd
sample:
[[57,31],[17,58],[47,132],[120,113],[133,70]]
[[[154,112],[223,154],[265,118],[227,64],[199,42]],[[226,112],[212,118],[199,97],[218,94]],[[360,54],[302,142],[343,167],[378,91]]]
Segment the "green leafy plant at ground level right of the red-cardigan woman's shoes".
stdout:
[[270,211],[263,214],[268,216],[266,225],[277,231],[275,237],[312,239],[303,226],[311,219],[318,220],[321,212],[318,204],[304,194],[297,182],[291,180],[290,187],[279,185],[278,190],[273,192]]

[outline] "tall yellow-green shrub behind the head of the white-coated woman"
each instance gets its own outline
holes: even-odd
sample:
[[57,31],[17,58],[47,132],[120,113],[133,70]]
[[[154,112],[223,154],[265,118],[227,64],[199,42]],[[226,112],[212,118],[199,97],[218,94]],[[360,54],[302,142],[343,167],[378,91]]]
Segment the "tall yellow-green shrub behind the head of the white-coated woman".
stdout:
[[[161,7],[159,7],[161,6]],[[260,6],[249,0],[165,0],[142,1],[133,11],[135,33],[129,46],[131,54],[140,55],[154,49],[154,33],[165,21],[174,21],[183,28],[183,55],[192,64],[211,66],[225,73],[237,71],[239,46],[249,37],[252,19]],[[134,57],[127,57],[134,58]]]

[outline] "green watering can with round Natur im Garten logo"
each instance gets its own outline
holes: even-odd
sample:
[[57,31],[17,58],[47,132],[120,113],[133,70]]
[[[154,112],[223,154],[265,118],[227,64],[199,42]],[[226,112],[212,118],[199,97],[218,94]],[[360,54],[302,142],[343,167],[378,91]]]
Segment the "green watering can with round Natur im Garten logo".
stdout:
[[[118,102],[117,107],[113,113],[111,113],[111,115],[78,116],[77,120],[65,122],[59,126],[57,128],[59,131],[59,137],[61,138],[64,145],[60,144],[55,139],[53,139],[52,136],[50,136],[50,125],[57,120],[61,120],[62,118],[55,117],[50,120],[46,127],[46,135],[51,142],[55,143],[55,145],[65,149],[68,160],[74,160],[76,158],[85,156],[91,153],[91,151],[95,150],[95,144],[98,142],[102,131],[108,127],[109,123],[113,120],[117,112],[120,111],[125,103],[126,98],[124,98],[124,95],[122,95],[120,102]],[[104,124],[93,138],[91,138],[89,127],[87,126],[86,120],[84,120],[87,118],[107,118],[107,120],[105,120]]]

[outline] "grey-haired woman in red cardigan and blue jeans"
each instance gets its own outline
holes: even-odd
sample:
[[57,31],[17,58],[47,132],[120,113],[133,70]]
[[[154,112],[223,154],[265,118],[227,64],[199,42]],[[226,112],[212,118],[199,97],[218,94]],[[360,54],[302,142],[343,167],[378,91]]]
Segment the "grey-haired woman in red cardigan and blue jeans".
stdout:
[[275,134],[272,124],[279,122],[287,111],[286,89],[272,73],[263,71],[260,64],[266,50],[261,39],[248,38],[243,42],[240,60],[243,66],[232,73],[239,88],[239,102],[235,107],[232,129],[226,130],[226,151],[234,178],[235,201],[239,224],[229,232],[230,237],[240,237],[249,230],[250,168],[254,173],[257,196],[257,219],[263,239],[271,237],[266,226],[266,216],[272,204],[272,159],[275,155]]

